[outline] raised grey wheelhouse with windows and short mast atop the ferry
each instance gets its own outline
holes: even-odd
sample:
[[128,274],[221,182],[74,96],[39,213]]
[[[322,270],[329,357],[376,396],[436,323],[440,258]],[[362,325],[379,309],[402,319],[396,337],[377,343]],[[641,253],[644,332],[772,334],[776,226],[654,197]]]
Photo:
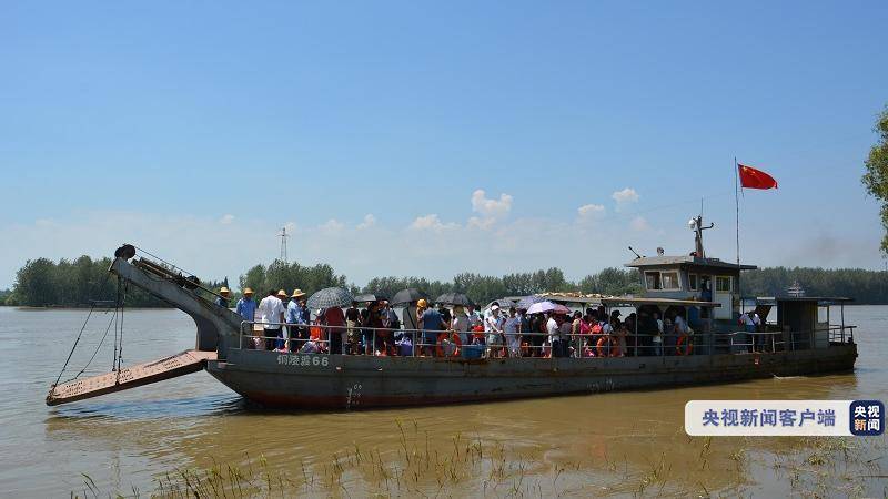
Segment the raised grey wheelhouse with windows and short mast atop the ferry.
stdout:
[[706,256],[703,247],[703,217],[689,223],[696,233],[695,251],[683,256],[666,256],[657,248],[657,256],[638,256],[626,264],[637,268],[646,298],[715,302],[716,320],[733,320],[739,316],[739,281],[741,271],[753,271],[755,265],[737,265]]

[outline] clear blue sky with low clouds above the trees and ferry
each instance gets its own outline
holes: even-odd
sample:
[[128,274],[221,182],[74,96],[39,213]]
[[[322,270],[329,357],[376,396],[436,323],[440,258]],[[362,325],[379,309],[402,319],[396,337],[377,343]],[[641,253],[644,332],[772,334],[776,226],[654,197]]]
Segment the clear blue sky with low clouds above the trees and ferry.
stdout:
[[283,225],[357,284],[579,277],[690,251],[702,196],[733,259],[735,155],[780,182],[743,200],[745,261],[882,268],[860,175],[886,24],[884,1],[7,1],[0,287],[122,241],[235,277]]

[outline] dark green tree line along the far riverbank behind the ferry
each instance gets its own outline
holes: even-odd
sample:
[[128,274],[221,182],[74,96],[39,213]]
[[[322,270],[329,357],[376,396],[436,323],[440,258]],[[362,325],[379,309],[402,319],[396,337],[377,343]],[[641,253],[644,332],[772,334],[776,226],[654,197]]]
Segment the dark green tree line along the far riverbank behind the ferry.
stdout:
[[[118,283],[108,273],[111,258],[77,259],[48,258],[28,261],[16,274],[10,291],[0,292],[0,303],[18,306],[88,306],[92,301],[114,301]],[[848,296],[861,304],[888,304],[888,273],[865,269],[786,268],[773,267],[745,272],[740,286],[745,296],[779,296],[786,288],[799,283],[809,296]],[[204,286],[219,289],[222,282],[204,282]],[[425,277],[374,277],[365,286],[350,284],[346,276],[336,274],[329,264],[302,265],[297,262],[272,262],[254,265],[239,279],[240,289],[251,287],[258,296],[270,289],[292,293],[300,288],[312,293],[332,286],[346,287],[354,294],[375,293],[392,296],[401,289],[416,287],[433,299],[444,293],[464,293],[478,304],[504,296],[525,296],[542,292],[581,292],[603,295],[639,294],[637,271],[608,267],[571,281],[559,268],[491,276],[461,273],[451,281],[430,281]],[[134,286],[127,286],[125,305],[129,307],[167,307]],[[239,296],[234,291],[233,299]]]

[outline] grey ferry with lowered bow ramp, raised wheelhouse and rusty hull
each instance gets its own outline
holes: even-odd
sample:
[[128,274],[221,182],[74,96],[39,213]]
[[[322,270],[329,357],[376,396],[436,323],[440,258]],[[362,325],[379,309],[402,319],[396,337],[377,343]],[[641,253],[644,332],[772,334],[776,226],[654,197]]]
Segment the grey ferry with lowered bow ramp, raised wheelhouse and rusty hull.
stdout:
[[[205,369],[219,381],[262,406],[293,409],[353,409],[490,401],[571,394],[674,388],[774,376],[850,371],[857,358],[855,326],[845,324],[849,298],[781,296],[756,299],[761,326],[738,325],[741,273],[755,269],[707,257],[703,218],[692,221],[695,249],[687,255],[638,257],[626,266],[638,272],[639,296],[543,295],[574,309],[604,307],[635,312],[635,330],[619,356],[607,340],[571,338],[568,357],[467,358],[451,345],[441,356],[339,355],[252,349],[252,322],[208,299],[189,278],[132,245],[115,252],[110,272],[194,319],[196,345],[152,363],[53,385],[48,405],[120,391]],[[830,306],[838,306],[834,320]],[[768,322],[776,307],[776,319]],[[749,310],[753,313],[753,310]],[[653,314],[680,314],[687,334],[656,344]],[[835,323],[835,324],[834,324]],[[645,330],[645,328],[648,328]],[[640,329],[640,330],[639,330]],[[404,330],[422,342],[422,332]],[[667,339],[668,339],[668,335]],[[323,342],[323,335],[317,339]],[[450,336],[443,336],[450,343]],[[614,349],[612,349],[614,348]],[[597,352],[596,352],[597,349]],[[629,354],[629,355],[627,355]]]

